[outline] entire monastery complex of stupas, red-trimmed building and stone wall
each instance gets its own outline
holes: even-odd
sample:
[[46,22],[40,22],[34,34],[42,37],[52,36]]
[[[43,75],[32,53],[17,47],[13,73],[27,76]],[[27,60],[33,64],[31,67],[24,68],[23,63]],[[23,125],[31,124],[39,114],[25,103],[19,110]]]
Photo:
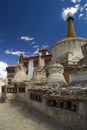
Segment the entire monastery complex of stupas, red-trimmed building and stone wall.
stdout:
[[50,52],[43,48],[27,58],[21,53],[19,64],[6,68],[1,91],[2,101],[26,104],[56,122],[56,130],[87,130],[87,39],[76,36],[73,21],[69,14],[67,38]]

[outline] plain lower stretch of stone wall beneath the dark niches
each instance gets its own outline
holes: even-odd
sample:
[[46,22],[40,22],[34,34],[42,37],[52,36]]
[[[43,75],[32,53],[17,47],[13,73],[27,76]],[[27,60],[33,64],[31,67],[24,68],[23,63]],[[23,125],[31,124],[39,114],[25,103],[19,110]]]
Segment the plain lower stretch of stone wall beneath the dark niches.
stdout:
[[62,130],[87,130],[87,102],[81,102],[77,111],[71,111],[48,106],[44,97],[42,101],[32,100],[28,92],[26,94],[17,94],[16,99],[27,103],[29,108],[34,108],[51,117],[61,125]]

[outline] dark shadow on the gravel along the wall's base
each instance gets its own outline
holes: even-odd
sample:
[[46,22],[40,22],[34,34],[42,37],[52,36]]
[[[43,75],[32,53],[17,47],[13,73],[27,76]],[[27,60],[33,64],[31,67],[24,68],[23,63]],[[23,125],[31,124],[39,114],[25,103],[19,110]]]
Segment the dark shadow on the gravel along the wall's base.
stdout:
[[27,119],[31,119],[38,125],[45,125],[49,130],[62,130],[62,127],[57,124],[52,118],[46,117],[42,113],[36,111],[34,108],[29,108],[27,104],[18,101],[10,102],[11,107],[17,109]]

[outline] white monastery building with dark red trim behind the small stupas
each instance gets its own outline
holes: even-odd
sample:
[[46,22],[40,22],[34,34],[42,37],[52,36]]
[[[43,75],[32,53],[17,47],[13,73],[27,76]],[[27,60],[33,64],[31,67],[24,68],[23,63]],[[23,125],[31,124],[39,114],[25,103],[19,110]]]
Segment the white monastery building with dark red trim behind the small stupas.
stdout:
[[[25,73],[28,75],[29,80],[33,77],[34,69],[39,67],[43,68],[52,58],[51,53],[47,49],[42,49],[38,51],[38,55],[31,57],[24,57],[23,54],[20,54],[19,64],[23,64],[23,67],[26,69]],[[41,62],[41,63],[40,63]],[[16,74],[18,65],[9,66],[7,70],[7,79],[11,81]]]

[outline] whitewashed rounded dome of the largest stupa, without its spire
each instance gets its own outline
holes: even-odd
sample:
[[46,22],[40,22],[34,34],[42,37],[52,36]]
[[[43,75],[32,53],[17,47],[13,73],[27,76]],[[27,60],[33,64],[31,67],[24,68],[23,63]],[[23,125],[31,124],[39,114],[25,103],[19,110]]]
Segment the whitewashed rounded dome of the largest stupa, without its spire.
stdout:
[[[72,52],[70,60],[79,60],[83,58],[81,46],[87,42],[83,38],[66,38],[57,42],[51,49],[54,59],[64,55],[65,53]],[[72,58],[72,59],[71,59]]]

